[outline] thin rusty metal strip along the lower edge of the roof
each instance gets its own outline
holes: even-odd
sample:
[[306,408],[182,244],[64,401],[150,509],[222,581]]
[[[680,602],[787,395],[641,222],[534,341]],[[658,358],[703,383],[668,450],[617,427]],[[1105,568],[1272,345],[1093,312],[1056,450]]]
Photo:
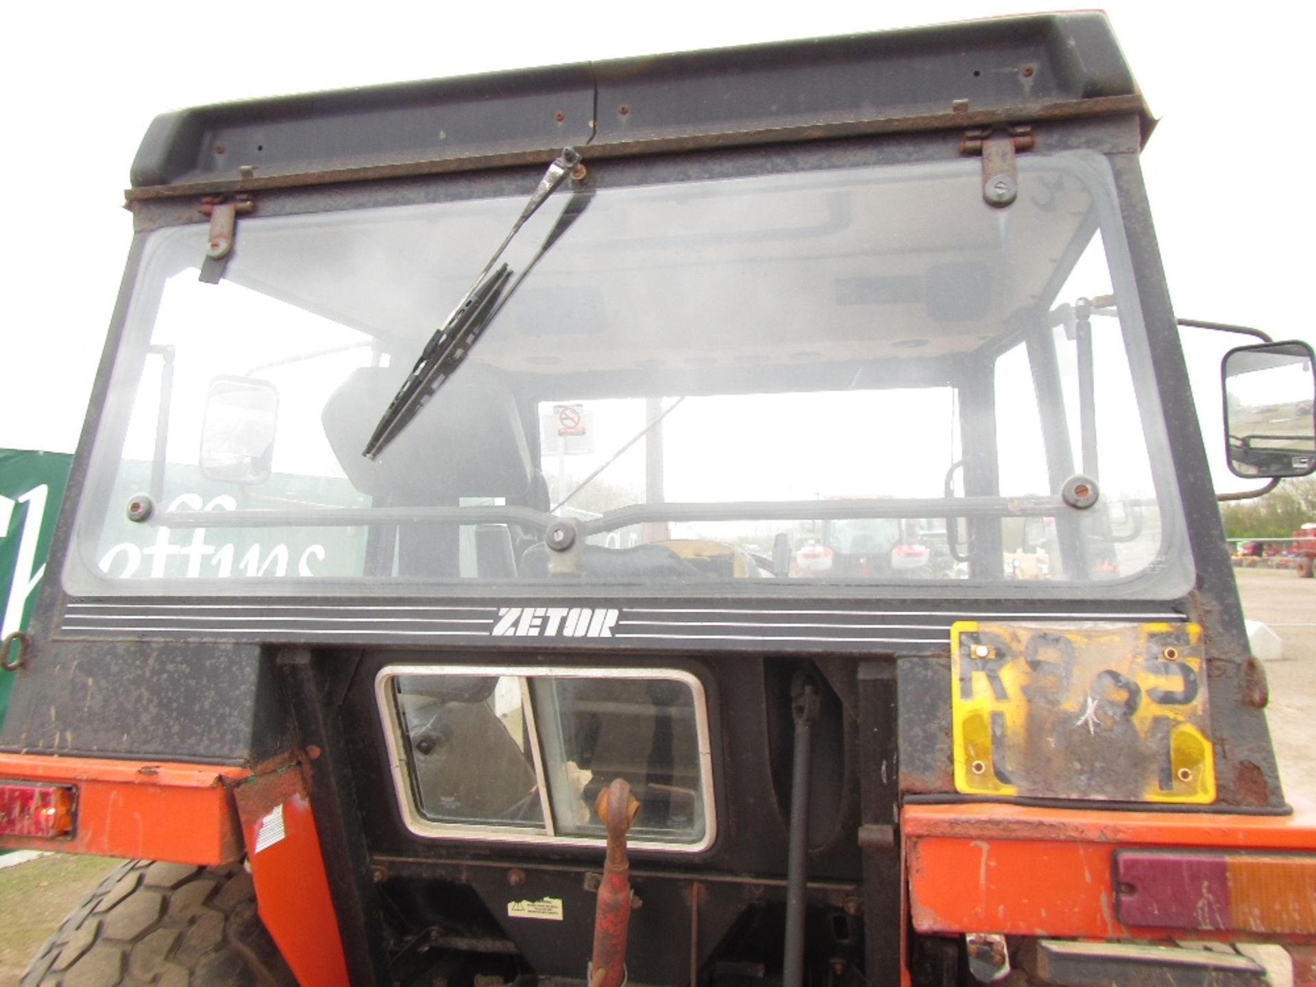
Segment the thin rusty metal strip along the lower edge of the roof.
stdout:
[[[1142,143],[1146,143],[1155,120],[1152,117],[1146,100],[1138,95],[1100,96],[1084,100],[1062,100],[1042,105],[998,107],[979,111],[948,111],[913,117],[890,117],[879,120],[845,120],[819,124],[801,124],[779,128],[733,130],[715,134],[680,134],[674,137],[653,137],[637,141],[600,142],[588,145],[591,161],[607,158],[626,158],[645,154],[670,154],[721,147],[737,147],[762,143],[786,143],[795,141],[821,141],[838,137],[865,137],[894,133],[924,133],[930,130],[962,130],[966,128],[992,126],[1000,124],[1042,122],[1048,120],[1073,120],[1080,117],[1138,114],[1142,118]],[[322,171],[297,171],[267,176],[233,178],[209,182],[187,182],[170,186],[145,186],[124,191],[126,205],[134,201],[158,199],[180,199],[200,195],[232,195],[234,192],[258,192],[262,190],[297,188],[305,186],[328,186],[349,182],[375,182],[392,178],[416,178],[421,175],[443,175],[486,168],[540,164],[558,154],[561,147],[541,147],[511,151],[505,154],[480,154],[462,158],[430,158],[424,161],[396,162],[390,164],[365,164],[357,167],[326,168]]]

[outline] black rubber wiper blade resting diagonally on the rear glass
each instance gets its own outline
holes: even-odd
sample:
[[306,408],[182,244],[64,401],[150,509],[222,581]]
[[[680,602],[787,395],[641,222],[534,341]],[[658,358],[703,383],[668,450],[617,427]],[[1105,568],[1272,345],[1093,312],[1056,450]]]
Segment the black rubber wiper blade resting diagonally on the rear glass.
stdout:
[[511,276],[512,271],[508,270],[507,265],[486,275],[467,293],[443,328],[429,338],[416,361],[416,366],[412,367],[403,386],[393,395],[393,400],[388,403],[388,409],[375,425],[362,455],[367,459],[379,455],[384,446],[392,442],[397,433],[416,417],[416,413],[438,390],[440,384],[453,375],[480,333],[484,332],[484,326],[488,325],[490,315]]

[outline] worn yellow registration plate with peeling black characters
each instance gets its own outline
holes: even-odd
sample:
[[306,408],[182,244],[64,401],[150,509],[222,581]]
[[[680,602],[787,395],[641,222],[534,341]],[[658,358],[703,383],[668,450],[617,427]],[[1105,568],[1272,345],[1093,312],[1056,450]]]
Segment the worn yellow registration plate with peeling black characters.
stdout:
[[1213,801],[1200,642],[1196,624],[953,624],[955,788]]

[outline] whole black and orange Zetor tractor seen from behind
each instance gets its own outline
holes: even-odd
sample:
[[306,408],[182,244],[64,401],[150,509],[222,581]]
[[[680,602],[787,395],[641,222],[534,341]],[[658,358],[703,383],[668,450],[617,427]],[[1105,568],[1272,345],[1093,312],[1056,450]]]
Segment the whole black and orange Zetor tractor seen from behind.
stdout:
[[1095,13],[158,118],[0,729],[0,845],[155,863],[33,983],[1311,962],[1207,450],[1312,354],[1202,434],[1150,129]]

